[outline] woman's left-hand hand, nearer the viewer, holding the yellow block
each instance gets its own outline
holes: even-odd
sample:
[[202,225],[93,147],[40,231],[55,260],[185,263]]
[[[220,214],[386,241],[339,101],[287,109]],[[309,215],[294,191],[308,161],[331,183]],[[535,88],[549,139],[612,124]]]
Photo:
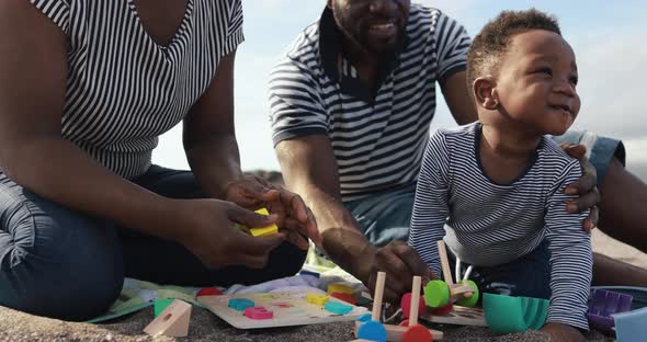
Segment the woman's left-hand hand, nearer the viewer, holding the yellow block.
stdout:
[[276,221],[276,215],[259,215],[238,205],[218,200],[173,200],[177,216],[171,225],[172,237],[205,266],[219,269],[245,265],[262,269],[270,252],[285,240],[285,235],[251,237],[235,224],[265,227]]

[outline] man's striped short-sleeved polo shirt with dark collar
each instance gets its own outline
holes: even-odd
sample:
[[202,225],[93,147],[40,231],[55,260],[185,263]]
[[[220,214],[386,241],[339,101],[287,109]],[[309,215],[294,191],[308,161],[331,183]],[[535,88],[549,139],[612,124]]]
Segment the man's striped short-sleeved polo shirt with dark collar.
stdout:
[[296,38],[270,80],[274,145],[327,135],[343,201],[416,181],[435,111],[435,82],[465,69],[469,37],[435,9],[412,4],[406,38],[376,94],[341,50],[332,13]]

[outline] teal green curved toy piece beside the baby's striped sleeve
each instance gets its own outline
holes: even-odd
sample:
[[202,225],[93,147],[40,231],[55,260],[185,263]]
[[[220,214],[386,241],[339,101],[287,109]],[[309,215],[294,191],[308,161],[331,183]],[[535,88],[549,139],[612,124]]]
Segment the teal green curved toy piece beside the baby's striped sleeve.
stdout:
[[544,327],[548,316],[547,299],[485,294],[483,309],[490,330],[495,333],[522,332]]

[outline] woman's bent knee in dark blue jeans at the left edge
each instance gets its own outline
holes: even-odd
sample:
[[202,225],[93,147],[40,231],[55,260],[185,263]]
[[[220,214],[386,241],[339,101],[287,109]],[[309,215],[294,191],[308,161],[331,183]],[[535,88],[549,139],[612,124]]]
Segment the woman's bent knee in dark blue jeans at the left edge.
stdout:
[[0,305],[86,320],[114,303],[124,271],[113,228],[37,197],[3,209]]

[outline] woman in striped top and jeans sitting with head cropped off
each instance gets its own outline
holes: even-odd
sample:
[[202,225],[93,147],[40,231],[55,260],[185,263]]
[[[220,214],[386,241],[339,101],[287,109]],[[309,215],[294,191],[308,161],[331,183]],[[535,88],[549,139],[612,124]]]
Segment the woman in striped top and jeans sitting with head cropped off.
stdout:
[[[0,305],[84,320],[124,276],[249,284],[302,266],[310,210],[240,171],[241,23],[240,0],[0,2]],[[151,166],[181,121],[193,172]]]

